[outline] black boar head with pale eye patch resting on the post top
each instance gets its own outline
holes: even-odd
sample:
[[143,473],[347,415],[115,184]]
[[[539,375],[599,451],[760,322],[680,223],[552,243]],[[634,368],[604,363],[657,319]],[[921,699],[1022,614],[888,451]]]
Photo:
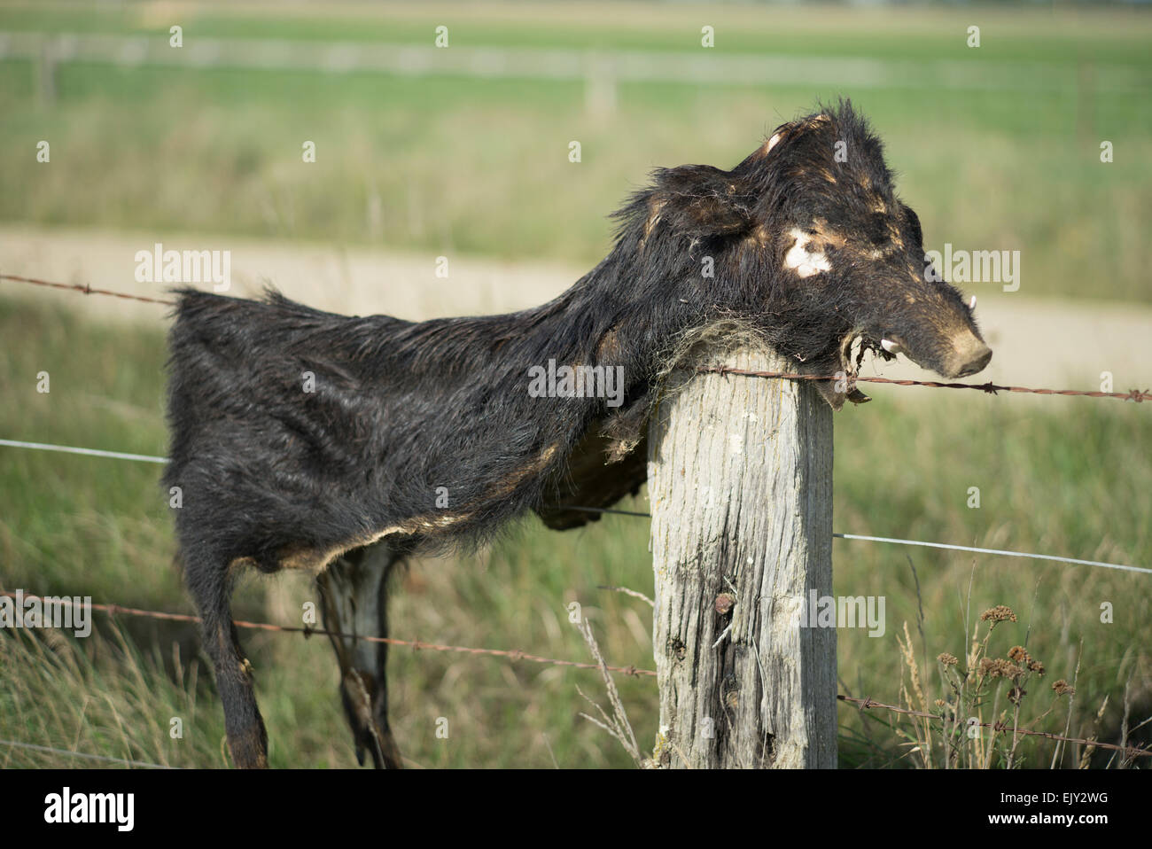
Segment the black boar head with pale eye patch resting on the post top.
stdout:
[[[992,357],[975,298],[929,273],[919,219],[850,103],[778,127],[730,172],[660,170],[645,202],[645,235],[658,219],[689,238],[694,267],[702,253],[714,258],[715,279],[695,282],[694,295],[750,323],[809,373],[854,374],[857,341],[861,356],[903,353],[946,378]],[[867,400],[847,381],[816,382],[833,409]]]

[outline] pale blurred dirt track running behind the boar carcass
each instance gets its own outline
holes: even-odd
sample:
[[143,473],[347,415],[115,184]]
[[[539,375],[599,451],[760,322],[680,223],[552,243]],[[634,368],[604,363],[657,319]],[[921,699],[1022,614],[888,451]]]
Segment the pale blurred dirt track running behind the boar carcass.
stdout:
[[[136,251],[151,250],[154,236],[123,233],[0,228],[0,270],[59,282],[90,283],[139,295],[164,296],[164,283],[135,280]],[[543,303],[568,288],[586,268],[548,263],[501,263],[449,257],[448,276],[438,278],[434,256],[369,249],[294,245],[205,236],[164,237],[166,250],[232,251],[232,289],[249,296],[274,283],[288,297],[343,313],[382,312],[408,319],[480,314]],[[203,288],[210,288],[204,285]],[[1026,281],[1025,281],[1026,289]],[[56,300],[106,320],[162,320],[164,308],[107,297],[0,282],[0,291]],[[1097,389],[1111,371],[1115,391],[1152,386],[1152,308],[1030,298],[980,285],[977,318],[995,355],[979,381]],[[864,374],[931,379],[901,358]],[[865,387],[869,394],[890,387]],[[909,391],[911,396],[930,391]]]

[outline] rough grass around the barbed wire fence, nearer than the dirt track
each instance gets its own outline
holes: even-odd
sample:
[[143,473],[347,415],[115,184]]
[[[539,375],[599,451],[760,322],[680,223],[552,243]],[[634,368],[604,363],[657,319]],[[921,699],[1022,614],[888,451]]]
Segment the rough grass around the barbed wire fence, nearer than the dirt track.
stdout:
[[[0,435],[165,453],[159,323],[154,329],[106,327],[51,301],[3,298],[0,340],[0,396],[7,400]],[[51,376],[47,394],[36,392],[41,371]],[[929,392],[892,388],[838,414],[836,530],[1152,563],[1146,409],[1084,399],[912,395]],[[170,520],[158,478],[151,464],[0,447],[2,588],[188,611],[170,567]],[[967,506],[971,486],[980,488],[978,509]],[[839,632],[841,692],[901,699],[908,668],[896,637],[907,622],[926,698],[947,695],[933,659],[963,657],[965,621],[1003,604],[1020,621],[998,628],[990,654],[1024,644],[1047,667],[1028,688],[1025,718],[1047,710],[1051,683],[1073,681],[1077,662],[1073,735],[1091,733],[1107,699],[1101,734],[1115,742],[1126,688],[1132,725],[1152,713],[1147,576],[847,540],[836,541],[833,554],[838,594],[884,596],[887,606],[882,637]],[[600,585],[651,593],[645,521],[609,516],[561,536],[530,520],[477,556],[414,563],[396,581],[394,636],[586,660],[567,620],[567,605],[578,601],[608,662],[651,668],[650,609]],[[311,599],[304,576],[253,575],[237,590],[236,615],[298,624],[301,605]],[[1102,602],[1114,607],[1111,624],[1100,622]],[[98,635],[84,640],[0,632],[0,738],[176,766],[222,765],[222,714],[195,630],[128,617],[113,629],[100,615],[97,622]],[[242,636],[257,670],[272,764],[354,765],[327,643]],[[395,649],[389,680],[395,734],[416,765],[547,767],[553,757],[561,766],[630,763],[577,717],[585,710],[577,687],[602,697],[593,672]],[[620,679],[619,685],[642,746],[650,746],[654,682]],[[1005,699],[1001,691],[996,710]],[[1063,730],[1068,702],[1055,703],[1038,729]],[[991,703],[982,711],[985,721],[999,717]],[[183,722],[180,740],[168,734],[174,717]],[[434,734],[441,717],[449,722],[447,741]],[[911,763],[887,719],[841,707],[842,766]],[[1028,741],[1018,751],[1025,766],[1041,766],[1052,749]],[[83,764],[0,749],[0,766],[47,765]]]

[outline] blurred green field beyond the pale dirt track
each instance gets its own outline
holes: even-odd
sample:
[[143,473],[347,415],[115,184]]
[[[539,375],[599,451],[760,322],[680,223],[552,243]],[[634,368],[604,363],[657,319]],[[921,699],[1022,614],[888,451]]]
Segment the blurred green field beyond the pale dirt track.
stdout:
[[[170,22],[153,9],[0,6],[0,30],[162,35]],[[978,51],[963,40],[972,15],[983,24]],[[1006,66],[1008,88],[917,88],[915,74],[908,88],[857,90],[622,84],[615,112],[597,118],[576,82],[66,63],[56,100],[44,105],[30,65],[0,61],[0,150],[28,162],[0,174],[0,221],[591,265],[608,243],[607,214],[652,167],[730,167],[778,123],[844,94],[886,139],[929,248],[1020,250],[1029,295],[1152,300],[1143,228],[1152,106],[1146,91],[1102,84],[1115,70],[1152,78],[1152,16],[627,6],[611,26],[598,20],[552,3],[355,6],[323,21],[210,5],[184,25],[185,43],[427,44],[447,22],[456,46],[695,51],[705,21],[718,29],[718,53]],[[1011,68],[1036,61],[1058,84],[1011,88]],[[47,165],[33,162],[40,139],[52,145]],[[567,159],[573,139],[583,145],[578,165]],[[1109,165],[1099,161],[1102,139],[1115,147]],[[317,144],[314,165],[302,162],[304,141]]]

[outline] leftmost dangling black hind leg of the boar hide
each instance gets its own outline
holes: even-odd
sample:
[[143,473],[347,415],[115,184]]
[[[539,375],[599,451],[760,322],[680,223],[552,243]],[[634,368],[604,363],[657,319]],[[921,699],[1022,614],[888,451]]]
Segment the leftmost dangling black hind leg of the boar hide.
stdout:
[[217,690],[223,703],[225,730],[233,763],[244,770],[266,768],[268,735],[256,705],[252,665],[240,647],[232,621],[232,581],[226,563],[185,558],[185,573],[203,620],[204,649],[212,658]]

